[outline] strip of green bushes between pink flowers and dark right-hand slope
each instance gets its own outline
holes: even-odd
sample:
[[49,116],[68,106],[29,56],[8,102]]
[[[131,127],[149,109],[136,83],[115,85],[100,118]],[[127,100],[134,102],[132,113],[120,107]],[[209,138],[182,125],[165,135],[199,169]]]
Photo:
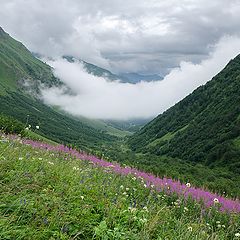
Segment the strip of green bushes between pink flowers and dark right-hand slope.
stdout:
[[240,196],[240,175],[225,167],[210,168],[201,163],[193,164],[169,156],[135,153],[124,144],[108,148],[104,155],[112,161],[127,164],[160,177],[167,176],[182,182],[192,182],[195,186],[231,197]]

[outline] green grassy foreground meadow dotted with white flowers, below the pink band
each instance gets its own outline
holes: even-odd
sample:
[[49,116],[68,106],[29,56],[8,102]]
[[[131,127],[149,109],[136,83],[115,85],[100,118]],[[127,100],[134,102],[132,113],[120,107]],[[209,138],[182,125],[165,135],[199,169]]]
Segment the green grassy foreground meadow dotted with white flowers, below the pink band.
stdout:
[[239,215],[56,152],[0,141],[1,239],[237,239]]

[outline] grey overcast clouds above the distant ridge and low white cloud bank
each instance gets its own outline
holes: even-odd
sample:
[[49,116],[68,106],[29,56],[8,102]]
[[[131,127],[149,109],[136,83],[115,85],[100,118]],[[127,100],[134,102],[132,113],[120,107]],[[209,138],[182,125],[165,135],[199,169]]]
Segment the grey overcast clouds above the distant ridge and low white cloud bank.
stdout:
[[0,25],[31,51],[116,73],[200,63],[239,22],[238,0],[0,0]]

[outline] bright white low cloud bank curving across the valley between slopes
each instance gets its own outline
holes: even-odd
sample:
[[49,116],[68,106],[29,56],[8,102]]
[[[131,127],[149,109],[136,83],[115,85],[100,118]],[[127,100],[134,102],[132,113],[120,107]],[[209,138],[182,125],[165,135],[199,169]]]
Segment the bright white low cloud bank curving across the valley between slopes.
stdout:
[[50,62],[55,74],[75,93],[66,95],[61,89],[45,89],[46,103],[59,105],[74,115],[98,119],[148,118],[162,113],[205,84],[240,52],[238,37],[224,37],[207,59],[199,64],[181,62],[163,81],[138,84],[109,82],[89,75],[80,63],[64,60]]

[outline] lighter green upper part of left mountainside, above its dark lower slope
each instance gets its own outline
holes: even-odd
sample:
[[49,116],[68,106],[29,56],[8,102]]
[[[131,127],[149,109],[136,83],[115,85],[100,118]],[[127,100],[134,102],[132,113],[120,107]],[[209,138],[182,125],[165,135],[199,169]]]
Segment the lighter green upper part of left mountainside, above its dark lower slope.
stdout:
[[48,87],[59,85],[51,67],[33,57],[31,52],[20,42],[11,38],[0,28],[0,94],[17,89],[31,88],[39,92],[39,85]]

